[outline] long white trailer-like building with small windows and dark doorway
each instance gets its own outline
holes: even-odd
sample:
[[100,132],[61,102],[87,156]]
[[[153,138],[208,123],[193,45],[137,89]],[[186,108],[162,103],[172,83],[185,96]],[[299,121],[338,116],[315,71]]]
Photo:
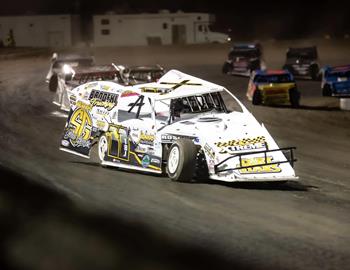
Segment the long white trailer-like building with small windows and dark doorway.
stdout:
[[208,13],[105,14],[93,16],[95,46],[142,46],[227,42],[228,36],[211,32]]

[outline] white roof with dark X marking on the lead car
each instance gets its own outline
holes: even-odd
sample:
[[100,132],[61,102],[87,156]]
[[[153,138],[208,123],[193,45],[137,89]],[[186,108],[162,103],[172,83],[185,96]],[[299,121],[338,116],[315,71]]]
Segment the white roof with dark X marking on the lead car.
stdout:
[[158,82],[135,85],[134,89],[151,99],[164,100],[220,92],[225,88],[172,69]]

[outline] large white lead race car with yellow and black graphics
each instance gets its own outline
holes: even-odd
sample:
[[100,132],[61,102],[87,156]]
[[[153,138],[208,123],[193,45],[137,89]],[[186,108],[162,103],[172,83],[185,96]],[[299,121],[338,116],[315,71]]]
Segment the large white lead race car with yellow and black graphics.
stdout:
[[297,179],[293,147],[279,148],[227,89],[180,71],[132,87],[87,83],[70,102],[60,149],[103,166],[174,181]]

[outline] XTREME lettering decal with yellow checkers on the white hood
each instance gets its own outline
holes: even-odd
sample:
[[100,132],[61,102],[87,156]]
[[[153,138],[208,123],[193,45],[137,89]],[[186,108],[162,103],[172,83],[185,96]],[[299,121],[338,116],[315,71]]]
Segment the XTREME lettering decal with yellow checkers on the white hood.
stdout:
[[226,142],[216,142],[215,145],[220,148],[220,154],[234,154],[240,151],[250,151],[256,149],[266,149],[266,139],[264,136],[255,138],[244,138],[240,140],[230,140]]

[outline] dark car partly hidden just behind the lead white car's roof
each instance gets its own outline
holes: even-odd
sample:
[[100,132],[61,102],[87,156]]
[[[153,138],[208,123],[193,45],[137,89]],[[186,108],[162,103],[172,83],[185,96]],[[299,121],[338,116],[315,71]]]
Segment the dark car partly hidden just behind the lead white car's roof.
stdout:
[[164,74],[165,69],[160,65],[155,66],[131,66],[124,69],[124,77],[129,85],[156,82]]

